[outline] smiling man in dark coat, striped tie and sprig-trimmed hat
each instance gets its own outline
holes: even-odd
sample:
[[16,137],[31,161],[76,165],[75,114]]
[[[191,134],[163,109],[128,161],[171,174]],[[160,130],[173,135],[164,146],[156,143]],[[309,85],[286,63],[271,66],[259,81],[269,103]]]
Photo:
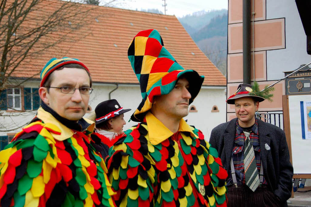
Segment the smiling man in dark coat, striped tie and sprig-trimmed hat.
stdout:
[[240,84],[227,99],[237,118],[211,132],[209,142],[229,174],[228,206],[287,206],[290,198],[293,167],[285,133],[255,117],[259,102],[272,101],[270,91],[259,91],[257,82]]

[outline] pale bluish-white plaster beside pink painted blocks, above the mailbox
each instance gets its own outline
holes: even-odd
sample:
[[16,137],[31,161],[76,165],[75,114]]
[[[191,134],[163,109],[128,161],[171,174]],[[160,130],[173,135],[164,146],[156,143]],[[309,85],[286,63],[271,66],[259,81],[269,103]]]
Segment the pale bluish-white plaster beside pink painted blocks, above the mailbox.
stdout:
[[311,62],[306,51],[306,35],[295,1],[267,0],[267,19],[285,17],[285,49],[267,51],[267,79],[278,80],[284,71]]

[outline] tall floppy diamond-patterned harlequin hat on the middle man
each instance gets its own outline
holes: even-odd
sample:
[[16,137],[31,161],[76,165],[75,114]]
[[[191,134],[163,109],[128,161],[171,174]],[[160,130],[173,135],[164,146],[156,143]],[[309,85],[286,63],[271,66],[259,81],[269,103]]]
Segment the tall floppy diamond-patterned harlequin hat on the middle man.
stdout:
[[176,81],[187,73],[191,99],[199,93],[204,76],[194,70],[186,70],[177,63],[164,47],[163,40],[156,30],[140,31],[128,47],[128,59],[140,83],[142,102],[131,117],[133,121],[142,121],[151,109],[153,97],[171,92]]

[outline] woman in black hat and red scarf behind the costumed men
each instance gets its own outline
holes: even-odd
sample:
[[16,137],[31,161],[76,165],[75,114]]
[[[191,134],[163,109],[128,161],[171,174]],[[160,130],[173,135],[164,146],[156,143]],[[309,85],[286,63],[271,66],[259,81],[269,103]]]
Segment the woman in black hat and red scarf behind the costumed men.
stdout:
[[109,148],[118,141],[123,135],[124,113],[131,109],[123,109],[117,100],[110,99],[98,104],[95,108],[95,118],[89,119],[95,121],[95,132],[91,138],[95,142],[94,147],[99,151],[103,158],[108,155]]

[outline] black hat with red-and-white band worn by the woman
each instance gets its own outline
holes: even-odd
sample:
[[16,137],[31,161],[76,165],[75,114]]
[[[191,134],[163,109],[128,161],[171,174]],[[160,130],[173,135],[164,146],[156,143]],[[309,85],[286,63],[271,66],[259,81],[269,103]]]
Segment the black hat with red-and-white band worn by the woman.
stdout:
[[131,109],[123,109],[117,100],[110,99],[98,104],[95,108],[95,125],[98,125],[104,121],[114,118],[125,112],[131,111]]

